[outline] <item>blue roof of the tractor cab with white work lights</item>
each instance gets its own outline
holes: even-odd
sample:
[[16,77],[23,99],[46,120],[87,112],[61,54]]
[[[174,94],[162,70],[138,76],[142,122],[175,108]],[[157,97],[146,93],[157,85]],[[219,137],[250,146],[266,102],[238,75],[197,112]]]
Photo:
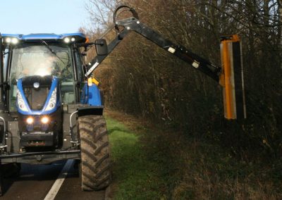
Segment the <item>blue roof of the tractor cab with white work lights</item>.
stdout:
[[[56,35],[54,33],[32,33],[29,35],[20,35],[20,34],[1,34],[2,37],[5,38],[17,38],[21,42],[41,42],[41,40],[49,41],[49,42],[63,42],[64,39],[73,39],[75,42],[78,43],[85,43],[87,38],[86,36],[81,32],[75,32],[75,33],[66,33],[61,35]],[[72,41],[73,42],[73,41]]]

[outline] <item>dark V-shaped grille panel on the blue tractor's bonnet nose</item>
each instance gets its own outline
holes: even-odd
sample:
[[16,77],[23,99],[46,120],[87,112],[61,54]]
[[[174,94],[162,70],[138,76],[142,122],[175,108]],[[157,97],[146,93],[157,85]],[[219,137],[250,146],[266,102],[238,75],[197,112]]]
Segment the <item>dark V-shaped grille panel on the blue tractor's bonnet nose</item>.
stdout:
[[25,87],[24,92],[30,108],[33,111],[41,111],[49,94],[49,88]]

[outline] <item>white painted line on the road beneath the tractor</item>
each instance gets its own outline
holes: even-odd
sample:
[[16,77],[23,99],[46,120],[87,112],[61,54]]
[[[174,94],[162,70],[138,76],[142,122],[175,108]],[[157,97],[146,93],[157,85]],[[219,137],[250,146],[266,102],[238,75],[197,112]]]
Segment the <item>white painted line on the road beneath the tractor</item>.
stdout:
[[63,185],[63,181],[66,179],[68,175],[68,170],[70,170],[73,165],[73,160],[68,160],[66,164],[63,166],[61,173],[57,177],[57,180],[54,182],[53,186],[49,190],[48,194],[45,196],[44,200],[53,200],[56,197],[56,194],[59,192],[61,185]]

